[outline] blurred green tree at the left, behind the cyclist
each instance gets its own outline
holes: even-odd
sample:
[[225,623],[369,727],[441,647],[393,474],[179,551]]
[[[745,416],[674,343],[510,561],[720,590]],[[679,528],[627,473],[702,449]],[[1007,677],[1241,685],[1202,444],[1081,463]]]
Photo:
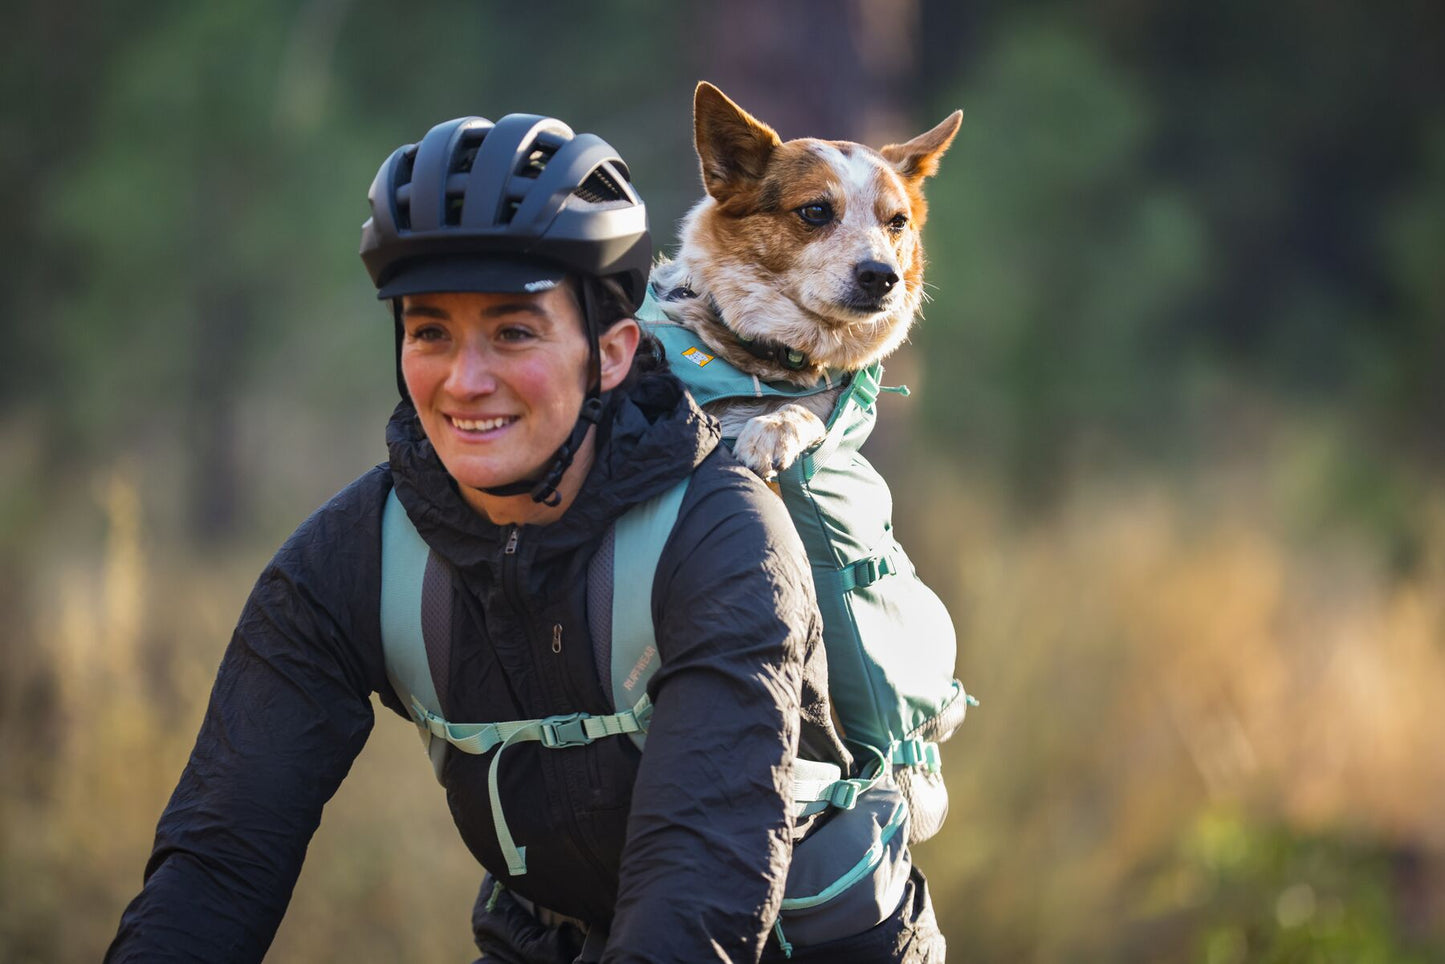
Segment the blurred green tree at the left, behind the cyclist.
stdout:
[[234,410],[275,335],[264,298],[316,246],[289,176],[298,143],[275,123],[290,7],[181,4],[131,22],[88,143],[56,165],[43,201],[75,251],[52,308],[66,436],[118,451],[168,413],[205,539],[241,519]]

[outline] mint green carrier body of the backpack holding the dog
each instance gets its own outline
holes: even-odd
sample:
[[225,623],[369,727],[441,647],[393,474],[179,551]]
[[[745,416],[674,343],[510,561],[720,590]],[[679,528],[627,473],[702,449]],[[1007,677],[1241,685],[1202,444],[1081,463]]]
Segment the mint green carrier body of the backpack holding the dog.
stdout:
[[[828,435],[779,473],[777,489],[812,565],[828,649],[828,695],[855,754],[887,760],[909,799],[912,841],[948,814],[938,744],[962,723],[970,697],[954,678],[957,642],[944,603],[893,538],[887,483],[858,452],[873,432],[883,369],[829,371],[808,389],[770,384],[714,357],[653,292],[637,312],[698,405],[796,399],[847,384]],[[736,439],[724,439],[730,447]]]

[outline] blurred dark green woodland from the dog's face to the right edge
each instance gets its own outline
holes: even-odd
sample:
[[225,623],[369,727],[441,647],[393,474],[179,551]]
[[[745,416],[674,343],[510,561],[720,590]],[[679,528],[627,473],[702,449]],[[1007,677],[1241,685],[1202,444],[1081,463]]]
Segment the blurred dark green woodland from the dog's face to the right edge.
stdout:
[[945,438],[1048,497],[1100,438],[1217,455],[1218,396],[1248,386],[1438,470],[1438,7],[980,19],[978,56],[929,91],[965,107],[918,335]]

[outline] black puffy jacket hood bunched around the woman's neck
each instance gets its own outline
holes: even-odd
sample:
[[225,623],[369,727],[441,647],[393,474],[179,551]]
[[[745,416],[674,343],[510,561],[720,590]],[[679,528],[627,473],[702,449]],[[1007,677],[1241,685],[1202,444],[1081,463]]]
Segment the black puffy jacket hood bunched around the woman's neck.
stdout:
[[[643,373],[604,399],[592,467],[577,499],[556,522],[527,526],[542,558],[585,545],[630,506],[681,481],[721,438],[717,421],[672,373]],[[458,567],[496,558],[512,526],[493,523],[461,497],[410,400],[392,412],[386,444],[396,496],[422,538]]]

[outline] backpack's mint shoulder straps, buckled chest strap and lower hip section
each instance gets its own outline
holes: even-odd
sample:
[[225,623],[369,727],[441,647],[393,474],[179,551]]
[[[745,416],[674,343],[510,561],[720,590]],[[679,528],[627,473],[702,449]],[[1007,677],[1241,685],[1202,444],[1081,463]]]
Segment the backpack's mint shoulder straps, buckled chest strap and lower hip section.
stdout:
[[[442,714],[434,666],[441,675],[449,660],[451,574],[422,541],[396,493],[387,496],[381,515],[381,646],[387,678],[420,733],[438,782],[448,747],[471,754],[500,747],[491,757],[488,792],[493,827],[512,876],[526,874],[526,847],[513,840],[497,793],[497,769],[509,746],[536,741],[565,750],[626,736],[644,747],[652,717],[647,681],[659,665],[652,582],[686,487],[683,480],[624,513],[588,567],[590,629],[600,676],[611,681],[616,713],[503,723],[452,723]],[[909,805],[889,767],[866,767],[850,779],[832,763],[793,760],[793,817],[825,809],[834,812],[793,848],[773,925],[788,957],[795,944],[861,934],[892,916],[913,866]]]

